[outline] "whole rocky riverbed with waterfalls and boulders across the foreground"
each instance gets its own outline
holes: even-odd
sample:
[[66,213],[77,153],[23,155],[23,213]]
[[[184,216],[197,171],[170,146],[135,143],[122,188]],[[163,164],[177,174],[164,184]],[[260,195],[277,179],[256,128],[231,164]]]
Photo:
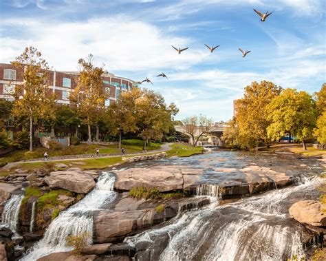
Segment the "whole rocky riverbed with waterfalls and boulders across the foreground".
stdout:
[[[3,225],[24,236],[3,239],[12,245],[9,259],[41,237],[24,260],[282,260],[323,244],[326,219],[316,189],[322,160],[230,151],[139,160],[145,161],[133,158],[129,167],[105,172],[61,165],[60,171],[18,170],[4,178],[2,208],[12,200],[18,211],[10,216],[6,210],[17,227]],[[25,198],[14,198],[21,188]],[[91,246],[76,259],[66,253],[65,240],[85,232]],[[281,247],[276,239],[287,244],[277,254],[270,252]],[[250,240],[259,241],[256,250]]]

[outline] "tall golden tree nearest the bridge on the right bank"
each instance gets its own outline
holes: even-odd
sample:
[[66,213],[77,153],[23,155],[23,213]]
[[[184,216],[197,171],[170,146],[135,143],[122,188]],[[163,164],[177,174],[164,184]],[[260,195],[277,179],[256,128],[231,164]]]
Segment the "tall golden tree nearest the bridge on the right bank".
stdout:
[[[259,143],[270,144],[267,127],[267,105],[281,92],[281,87],[270,81],[253,82],[245,88],[243,98],[236,101],[235,125],[238,130],[237,143],[243,149],[252,149]],[[235,134],[235,132],[233,132]]]

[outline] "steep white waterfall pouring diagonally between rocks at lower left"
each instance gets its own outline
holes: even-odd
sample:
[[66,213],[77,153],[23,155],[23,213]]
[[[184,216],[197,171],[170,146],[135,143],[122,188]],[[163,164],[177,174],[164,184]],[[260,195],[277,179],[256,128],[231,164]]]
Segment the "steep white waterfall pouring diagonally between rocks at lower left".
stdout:
[[59,213],[58,217],[47,227],[44,237],[21,260],[37,260],[50,253],[72,250],[66,245],[67,236],[83,235],[86,237],[87,244],[92,244],[91,211],[100,209],[102,205],[116,198],[116,192],[113,191],[114,181],[113,175],[103,173],[98,178],[96,188],[76,205]]

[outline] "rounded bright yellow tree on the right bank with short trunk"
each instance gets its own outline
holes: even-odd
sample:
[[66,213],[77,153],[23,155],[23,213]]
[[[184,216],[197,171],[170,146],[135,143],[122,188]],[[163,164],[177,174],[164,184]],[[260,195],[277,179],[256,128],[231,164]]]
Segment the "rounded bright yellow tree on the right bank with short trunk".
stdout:
[[268,105],[268,136],[279,139],[291,132],[305,147],[316,125],[316,103],[307,92],[286,89]]

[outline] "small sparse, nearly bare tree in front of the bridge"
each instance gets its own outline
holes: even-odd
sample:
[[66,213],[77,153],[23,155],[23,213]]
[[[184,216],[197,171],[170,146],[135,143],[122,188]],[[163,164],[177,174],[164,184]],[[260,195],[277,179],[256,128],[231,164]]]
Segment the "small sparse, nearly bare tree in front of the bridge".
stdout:
[[212,120],[204,115],[187,117],[182,121],[185,133],[191,136],[191,143],[195,147],[200,137],[212,129]]

